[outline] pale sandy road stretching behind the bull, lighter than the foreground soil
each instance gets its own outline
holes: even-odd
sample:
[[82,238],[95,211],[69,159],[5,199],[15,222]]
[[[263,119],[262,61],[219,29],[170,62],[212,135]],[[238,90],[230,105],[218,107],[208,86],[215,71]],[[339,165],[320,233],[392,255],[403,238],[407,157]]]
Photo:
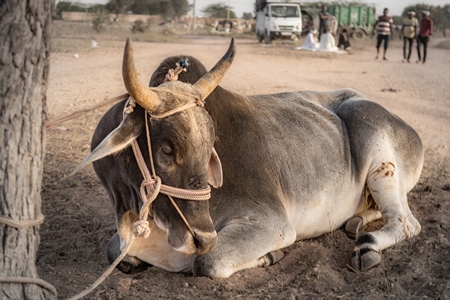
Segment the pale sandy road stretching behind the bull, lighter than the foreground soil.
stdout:
[[[442,39],[432,40],[436,45]],[[80,51],[52,54],[49,118],[97,103],[125,91],[121,77],[123,42],[105,41]],[[181,39],[179,43],[134,43],[141,80],[148,82],[166,57],[188,54],[211,68],[227,49],[228,38]],[[369,44],[370,42],[368,42]],[[389,61],[375,60],[366,46],[354,55],[294,51],[292,46],[265,47],[237,40],[237,55],[221,86],[246,95],[295,90],[353,88],[396,113],[419,132],[429,148],[450,146],[450,55],[432,48],[428,62],[402,63],[400,42],[389,49]],[[74,47],[75,48],[75,47]],[[76,50],[76,49],[75,49]],[[74,58],[73,54],[79,57]],[[415,52],[413,58],[415,58]],[[414,61],[415,59],[412,59]]]

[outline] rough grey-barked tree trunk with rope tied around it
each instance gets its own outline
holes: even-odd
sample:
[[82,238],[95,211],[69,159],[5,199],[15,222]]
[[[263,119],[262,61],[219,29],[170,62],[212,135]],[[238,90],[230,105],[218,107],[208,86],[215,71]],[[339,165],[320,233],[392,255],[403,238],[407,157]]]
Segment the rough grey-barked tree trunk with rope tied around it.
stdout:
[[[0,1],[0,217],[39,219],[53,0]],[[38,279],[39,226],[0,220],[0,299],[54,299]],[[42,281],[43,282],[43,281]],[[45,282],[43,282],[45,283]]]

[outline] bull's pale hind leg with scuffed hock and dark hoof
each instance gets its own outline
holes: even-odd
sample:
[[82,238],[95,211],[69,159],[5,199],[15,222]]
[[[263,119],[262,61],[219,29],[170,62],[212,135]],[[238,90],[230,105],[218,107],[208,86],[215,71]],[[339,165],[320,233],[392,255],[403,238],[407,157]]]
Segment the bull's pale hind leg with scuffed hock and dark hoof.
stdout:
[[[365,271],[381,262],[381,250],[420,233],[421,227],[407,203],[411,178],[401,178],[391,157],[369,170],[367,186],[383,217],[380,230],[365,233],[356,241],[352,267]],[[404,175],[404,174],[403,174]]]

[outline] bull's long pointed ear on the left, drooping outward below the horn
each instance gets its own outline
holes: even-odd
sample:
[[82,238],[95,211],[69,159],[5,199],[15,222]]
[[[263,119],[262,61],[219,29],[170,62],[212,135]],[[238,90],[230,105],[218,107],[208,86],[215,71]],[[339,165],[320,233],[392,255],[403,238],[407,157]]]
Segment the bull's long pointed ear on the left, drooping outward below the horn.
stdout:
[[[128,147],[134,139],[141,134],[141,119],[136,114],[126,115],[119,127],[108,134],[103,141],[92,150],[81,164],[75,168],[67,177],[74,175],[87,164],[92,163],[100,158],[119,152]],[[66,178],[67,178],[66,177]]]

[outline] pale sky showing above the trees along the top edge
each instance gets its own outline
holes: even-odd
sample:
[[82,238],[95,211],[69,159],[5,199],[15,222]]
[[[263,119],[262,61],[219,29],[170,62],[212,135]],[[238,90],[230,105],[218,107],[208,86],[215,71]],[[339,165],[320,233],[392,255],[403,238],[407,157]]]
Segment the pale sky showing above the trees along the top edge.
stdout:
[[[105,4],[108,0],[72,0],[72,2],[82,2],[82,3],[102,3]],[[190,4],[194,4],[194,0],[188,0]],[[302,1],[300,1],[301,3]],[[305,2],[314,2],[313,0],[308,0]],[[361,1],[366,3],[375,4],[377,8],[377,14],[381,15],[385,7],[389,8],[389,14],[391,16],[399,16],[403,12],[406,6],[414,5],[417,3],[426,3],[430,5],[444,5],[450,4],[450,0],[374,0],[374,1]],[[195,0],[195,12],[197,16],[202,15],[202,10],[210,4],[226,4],[232,7],[232,10],[236,13],[238,17],[242,17],[244,12],[254,13],[255,0]]]

